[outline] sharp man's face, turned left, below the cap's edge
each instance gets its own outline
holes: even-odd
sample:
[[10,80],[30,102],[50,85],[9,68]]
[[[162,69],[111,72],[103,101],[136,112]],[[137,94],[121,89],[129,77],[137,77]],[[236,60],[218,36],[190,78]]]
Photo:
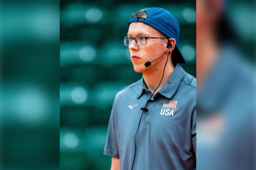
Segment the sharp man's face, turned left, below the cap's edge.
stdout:
[[[153,27],[146,25],[142,22],[132,22],[129,25],[129,30],[127,33],[129,37],[164,37],[159,31],[154,29]],[[166,42],[165,42],[166,41]],[[145,73],[150,68],[155,68],[157,64],[159,64],[163,58],[156,60],[152,63],[150,67],[145,67],[145,63],[147,61],[152,61],[163,54],[163,52],[167,49],[166,44],[167,39],[147,39],[147,44],[143,46],[139,46],[136,44],[135,40],[132,40],[131,45],[129,45],[129,51],[131,54],[132,64],[134,66],[134,70],[136,72]],[[161,64],[159,64],[160,66]]]

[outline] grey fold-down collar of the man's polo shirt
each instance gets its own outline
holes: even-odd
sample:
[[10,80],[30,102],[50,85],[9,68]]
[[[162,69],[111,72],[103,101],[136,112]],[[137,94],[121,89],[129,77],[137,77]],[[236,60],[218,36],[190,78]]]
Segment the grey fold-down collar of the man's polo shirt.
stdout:
[[[178,86],[180,82],[182,81],[182,78],[185,74],[185,70],[182,69],[182,67],[177,63],[176,67],[173,70],[173,73],[171,73],[170,78],[166,82],[166,84],[161,88],[157,93],[161,94],[162,96],[170,99],[176,90],[178,89]],[[145,90],[148,90],[146,87],[146,84],[143,80],[143,76],[141,80],[139,80],[139,88],[137,92],[137,99],[142,96],[143,92]]]

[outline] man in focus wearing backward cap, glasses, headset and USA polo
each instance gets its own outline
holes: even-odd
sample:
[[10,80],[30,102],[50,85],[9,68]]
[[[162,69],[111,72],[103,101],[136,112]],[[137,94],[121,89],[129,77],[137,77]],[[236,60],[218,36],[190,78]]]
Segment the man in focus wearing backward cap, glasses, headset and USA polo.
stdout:
[[177,19],[162,8],[130,19],[124,43],[143,77],[115,96],[104,149],[111,170],[196,169],[196,79],[178,64],[178,38]]

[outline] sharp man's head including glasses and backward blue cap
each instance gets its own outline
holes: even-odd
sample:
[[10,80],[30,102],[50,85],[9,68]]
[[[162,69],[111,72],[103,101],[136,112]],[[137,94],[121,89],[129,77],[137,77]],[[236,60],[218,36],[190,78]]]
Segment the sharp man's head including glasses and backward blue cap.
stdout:
[[[131,37],[129,51],[136,72],[144,73],[148,70],[144,64],[161,56],[167,50],[168,42],[169,45],[171,44],[170,51],[173,51],[173,64],[185,63],[176,45],[179,38],[177,19],[162,8],[147,8],[134,13],[129,21],[127,36]],[[137,38],[134,39],[135,37]],[[135,40],[137,40],[137,43]],[[141,44],[140,41],[142,42]],[[165,55],[167,56],[167,52]],[[165,60],[166,57],[163,56],[163,58],[152,63],[154,66],[150,67],[161,67]]]

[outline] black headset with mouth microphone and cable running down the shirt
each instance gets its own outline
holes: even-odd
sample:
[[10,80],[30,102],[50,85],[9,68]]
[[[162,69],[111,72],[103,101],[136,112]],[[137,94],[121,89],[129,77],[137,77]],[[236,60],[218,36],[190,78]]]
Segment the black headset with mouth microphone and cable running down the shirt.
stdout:
[[[165,65],[164,65],[164,70],[165,70],[165,68],[166,68],[166,64],[167,64],[167,61],[168,61],[168,56],[169,56],[169,54],[170,54],[170,49],[173,47],[173,45],[170,43],[170,39],[171,39],[171,38],[168,38],[168,37],[166,37],[166,38],[167,38],[167,40],[168,40],[168,43],[167,43],[167,46],[166,46],[166,48],[167,48],[166,51],[168,51],[168,50],[169,50],[169,51],[168,51],[166,63],[165,63]],[[159,58],[154,59],[154,60],[151,61],[151,62],[150,62],[150,61],[146,62],[146,63],[145,63],[145,67],[149,67],[152,62],[154,62],[154,61],[160,59],[160,58],[166,53],[166,51],[164,51],[164,53],[163,53]],[[162,78],[161,78],[161,81],[160,81],[159,85],[157,86],[157,88],[160,86],[160,84],[161,84],[161,82],[162,82],[162,80],[163,80],[163,77],[164,77],[164,71],[163,71],[163,76],[162,76]],[[157,89],[157,88],[156,88],[156,89]],[[154,95],[154,93],[156,92],[156,89],[154,90],[154,92],[152,93],[152,95],[149,97],[149,100],[147,100],[147,103],[150,101],[151,97],[152,97],[152,96]],[[142,115],[143,115],[144,112],[149,111],[149,110],[146,108],[146,107],[147,107],[147,103],[145,104],[144,107],[141,108],[141,110],[143,111],[142,114],[141,114],[141,118],[142,118]],[[139,125],[141,124],[141,118],[139,119]],[[132,161],[132,168],[133,168],[133,165],[134,165],[134,160],[135,160],[135,155],[136,155],[136,142],[135,142],[135,137],[136,137],[136,135],[137,135],[137,133],[138,133],[139,125],[138,125],[138,128],[137,128],[136,133],[135,133],[135,136],[134,136],[135,153],[134,153],[134,159],[133,159],[133,161]],[[132,169],[131,169],[131,170],[132,170]]]

